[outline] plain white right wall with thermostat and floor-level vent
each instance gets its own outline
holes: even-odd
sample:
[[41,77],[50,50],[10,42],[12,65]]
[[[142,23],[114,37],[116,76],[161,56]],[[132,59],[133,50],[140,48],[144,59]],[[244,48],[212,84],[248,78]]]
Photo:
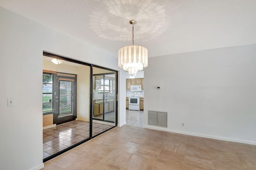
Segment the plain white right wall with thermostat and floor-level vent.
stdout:
[[147,126],[148,110],[165,111],[168,129],[159,129],[256,144],[255,54],[253,44],[150,57],[145,127],[156,128]]

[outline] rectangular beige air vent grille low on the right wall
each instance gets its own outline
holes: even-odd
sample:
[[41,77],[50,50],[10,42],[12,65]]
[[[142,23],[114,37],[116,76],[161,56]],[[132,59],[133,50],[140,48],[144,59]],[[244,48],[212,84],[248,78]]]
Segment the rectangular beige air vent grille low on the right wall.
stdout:
[[148,125],[167,128],[167,112],[148,111]]

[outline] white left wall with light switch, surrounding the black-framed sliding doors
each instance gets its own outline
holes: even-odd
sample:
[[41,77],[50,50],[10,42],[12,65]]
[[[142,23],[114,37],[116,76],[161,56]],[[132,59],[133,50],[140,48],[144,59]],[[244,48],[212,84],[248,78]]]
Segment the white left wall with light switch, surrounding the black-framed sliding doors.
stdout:
[[[0,169],[40,169],[43,50],[119,70],[117,58],[0,7]],[[125,123],[125,77],[119,71],[118,124]],[[7,98],[15,106],[7,107]]]

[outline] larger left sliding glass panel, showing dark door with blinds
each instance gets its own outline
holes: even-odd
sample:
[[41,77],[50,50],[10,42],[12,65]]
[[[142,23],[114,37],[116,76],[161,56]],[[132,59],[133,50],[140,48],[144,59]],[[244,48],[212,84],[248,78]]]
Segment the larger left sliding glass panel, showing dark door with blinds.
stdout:
[[[91,65],[43,56],[44,162],[90,139]],[[56,58],[55,58],[56,59]]]

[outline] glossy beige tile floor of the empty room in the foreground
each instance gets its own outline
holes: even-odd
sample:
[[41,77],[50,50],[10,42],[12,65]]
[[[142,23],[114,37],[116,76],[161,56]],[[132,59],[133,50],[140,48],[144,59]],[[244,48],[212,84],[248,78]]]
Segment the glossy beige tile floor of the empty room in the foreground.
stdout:
[[255,170],[256,145],[124,125],[46,162],[44,170]]

